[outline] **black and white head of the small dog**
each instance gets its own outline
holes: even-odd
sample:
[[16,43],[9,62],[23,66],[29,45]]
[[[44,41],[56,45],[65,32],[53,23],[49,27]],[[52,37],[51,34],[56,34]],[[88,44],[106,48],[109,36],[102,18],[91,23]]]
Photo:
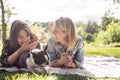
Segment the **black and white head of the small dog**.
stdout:
[[34,49],[33,51],[30,52],[30,58],[32,62],[39,66],[46,66],[48,64],[48,55],[46,52],[47,46],[45,47],[44,50],[42,49]]

